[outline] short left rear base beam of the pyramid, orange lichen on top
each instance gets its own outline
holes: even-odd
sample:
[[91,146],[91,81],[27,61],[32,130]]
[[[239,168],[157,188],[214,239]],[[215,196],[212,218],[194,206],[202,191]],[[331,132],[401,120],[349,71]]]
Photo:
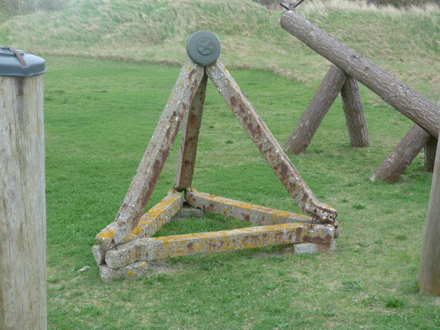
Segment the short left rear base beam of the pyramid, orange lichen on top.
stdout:
[[124,237],[122,243],[153,236],[157,230],[162,228],[165,223],[168,223],[181,210],[183,205],[184,197],[182,197],[181,193],[170,190],[162,201],[153,206],[151,210],[140,218],[136,228]]

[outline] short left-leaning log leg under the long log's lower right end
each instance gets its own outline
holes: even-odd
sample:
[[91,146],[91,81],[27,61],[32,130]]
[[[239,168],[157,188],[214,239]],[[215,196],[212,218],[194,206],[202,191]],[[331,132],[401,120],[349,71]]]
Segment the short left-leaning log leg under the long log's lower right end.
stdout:
[[401,142],[391,152],[388,158],[377,168],[371,181],[375,179],[384,179],[393,184],[400,175],[404,173],[406,168],[410,166],[421,149],[426,146],[431,135],[423,130],[420,126],[414,125],[412,129],[405,135]]

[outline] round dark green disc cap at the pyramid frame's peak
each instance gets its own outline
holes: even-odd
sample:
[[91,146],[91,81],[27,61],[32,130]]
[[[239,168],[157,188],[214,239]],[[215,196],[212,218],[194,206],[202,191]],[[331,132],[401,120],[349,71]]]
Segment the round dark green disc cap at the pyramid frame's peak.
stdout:
[[186,43],[186,53],[192,62],[205,66],[217,61],[221,52],[219,38],[209,31],[197,31]]

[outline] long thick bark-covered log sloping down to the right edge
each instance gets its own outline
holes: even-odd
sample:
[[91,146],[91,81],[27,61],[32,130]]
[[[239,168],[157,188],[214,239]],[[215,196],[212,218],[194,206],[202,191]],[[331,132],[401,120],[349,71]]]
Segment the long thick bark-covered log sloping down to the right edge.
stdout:
[[439,137],[440,109],[382,67],[343,45],[316,25],[288,10],[281,26],[312,50],[374,91],[385,102],[406,115],[434,137]]

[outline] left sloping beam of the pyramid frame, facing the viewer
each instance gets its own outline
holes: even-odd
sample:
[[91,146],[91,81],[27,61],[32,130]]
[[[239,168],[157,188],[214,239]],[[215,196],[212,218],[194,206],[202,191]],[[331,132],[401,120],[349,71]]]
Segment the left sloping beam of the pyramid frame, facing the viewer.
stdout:
[[156,126],[153,137],[140,162],[137,173],[126,193],[115,221],[107,225],[96,240],[101,250],[107,251],[121,243],[133,230],[157,184],[160,173],[173,146],[181,122],[203,78],[204,68],[187,61]]

